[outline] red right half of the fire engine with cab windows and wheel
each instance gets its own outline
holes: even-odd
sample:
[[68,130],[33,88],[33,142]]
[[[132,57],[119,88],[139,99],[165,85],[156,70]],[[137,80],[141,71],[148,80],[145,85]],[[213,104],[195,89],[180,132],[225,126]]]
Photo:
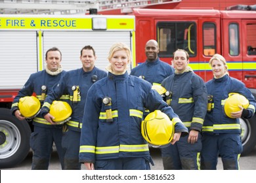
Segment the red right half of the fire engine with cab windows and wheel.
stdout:
[[[256,96],[256,5],[228,9],[134,9],[136,64],[146,59],[142,54],[146,41],[156,39],[163,61],[171,64],[173,52],[184,49],[190,55],[190,67],[206,82],[213,78],[209,59],[221,54],[230,76],[244,82]],[[256,144],[256,116],[240,122],[242,155],[246,155]]]

